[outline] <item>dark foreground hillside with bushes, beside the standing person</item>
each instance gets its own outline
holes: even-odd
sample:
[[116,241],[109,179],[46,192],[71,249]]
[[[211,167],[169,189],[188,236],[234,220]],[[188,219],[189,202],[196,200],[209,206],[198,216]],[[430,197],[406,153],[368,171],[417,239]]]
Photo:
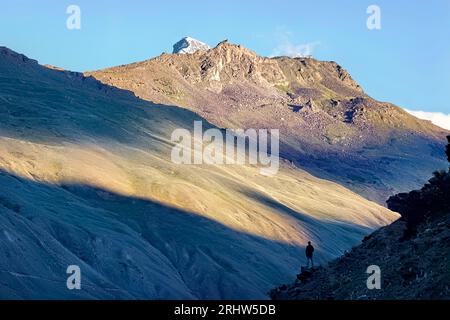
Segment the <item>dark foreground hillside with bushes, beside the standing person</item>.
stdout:
[[[305,270],[299,281],[272,290],[271,297],[450,299],[450,170],[434,172],[420,190],[391,197],[388,207],[401,213],[398,221],[326,266]],[[378,267],[377,289],[366,285],[373,284],[369,266]]]

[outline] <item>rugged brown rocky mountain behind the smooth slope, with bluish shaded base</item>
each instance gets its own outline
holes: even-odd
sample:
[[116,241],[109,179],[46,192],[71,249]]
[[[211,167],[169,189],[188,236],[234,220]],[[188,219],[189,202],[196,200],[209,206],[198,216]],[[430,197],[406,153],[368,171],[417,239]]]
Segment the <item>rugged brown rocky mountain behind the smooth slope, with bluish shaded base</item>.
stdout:
[[372,99],[335,62],[264,58],[225,41],[86,74],[222,128],[279,128],[283,157],[381,204],[444,164],[445,130]]

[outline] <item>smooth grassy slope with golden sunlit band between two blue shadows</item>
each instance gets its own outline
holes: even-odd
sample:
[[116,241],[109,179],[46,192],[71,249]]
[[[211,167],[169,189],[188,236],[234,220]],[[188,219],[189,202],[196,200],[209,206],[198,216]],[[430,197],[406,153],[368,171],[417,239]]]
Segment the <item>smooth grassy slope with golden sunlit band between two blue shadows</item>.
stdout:
[[288,162],[176,165],[198,115],[7,48],[0,115],[0,298],[267,298],[307,240],[324,262],[398,217]]

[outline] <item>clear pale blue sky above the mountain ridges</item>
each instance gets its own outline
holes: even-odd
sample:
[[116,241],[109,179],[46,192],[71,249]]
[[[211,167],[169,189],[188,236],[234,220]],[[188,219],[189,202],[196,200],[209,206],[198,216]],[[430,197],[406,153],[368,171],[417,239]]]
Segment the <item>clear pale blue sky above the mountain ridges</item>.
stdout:
[[[66,28],[71,4],[81,8],[81,30]],[[366,27],[372,4],[381,30]],[[229,39],[264,56],[304,45],[376,99],[450,113],[450,0],[0,2],[0,45],[76,71],[171,52],[186,35],[210,45]]]

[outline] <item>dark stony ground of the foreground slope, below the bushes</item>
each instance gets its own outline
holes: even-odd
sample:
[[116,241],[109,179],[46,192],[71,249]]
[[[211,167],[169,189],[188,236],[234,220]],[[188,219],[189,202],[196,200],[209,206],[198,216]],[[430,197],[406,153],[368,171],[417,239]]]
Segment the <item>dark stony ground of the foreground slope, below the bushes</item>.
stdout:
[[[402,240],[397,221],[366,237],[342,257],[302,281],[271,292],[273,299],[450,299],[450,213],[424,223]],[[381,269],[381,289],[369,290],[367,267]]]

